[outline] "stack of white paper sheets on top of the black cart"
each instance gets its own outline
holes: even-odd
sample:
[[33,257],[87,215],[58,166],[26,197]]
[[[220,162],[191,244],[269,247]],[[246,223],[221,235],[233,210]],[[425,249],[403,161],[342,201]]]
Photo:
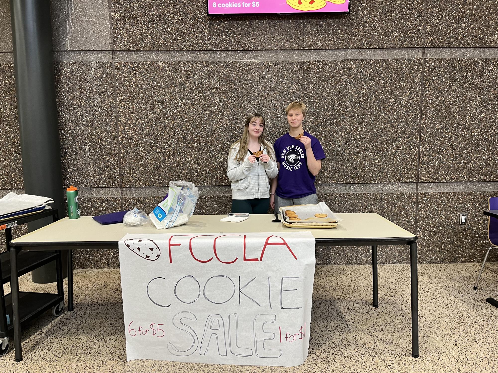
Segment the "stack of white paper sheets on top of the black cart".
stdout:
[[17,194],[11,191],[0,198],[0,221],[33,214],[45,208],[51,208],[52,198],[32,194]]

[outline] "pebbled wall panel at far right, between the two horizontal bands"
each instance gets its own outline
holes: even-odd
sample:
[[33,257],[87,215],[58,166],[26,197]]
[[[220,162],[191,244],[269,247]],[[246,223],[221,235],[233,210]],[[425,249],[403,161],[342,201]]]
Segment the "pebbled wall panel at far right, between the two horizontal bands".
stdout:
[[498,180],[497,82],[497,58],[427,59],[420,181]]

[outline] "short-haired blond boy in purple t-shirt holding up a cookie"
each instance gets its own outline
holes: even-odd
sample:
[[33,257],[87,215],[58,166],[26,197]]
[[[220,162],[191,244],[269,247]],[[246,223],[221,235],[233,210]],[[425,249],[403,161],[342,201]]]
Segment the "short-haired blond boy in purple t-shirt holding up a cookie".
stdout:
[[289,132],[279,137],[273,146],[278,176],[271,181],[270,206],[275,211],[279,206],[318,203],[315,177],[325,159],[320,141],[303,130],[306,105],[293,101],[287,105],[285,113]]

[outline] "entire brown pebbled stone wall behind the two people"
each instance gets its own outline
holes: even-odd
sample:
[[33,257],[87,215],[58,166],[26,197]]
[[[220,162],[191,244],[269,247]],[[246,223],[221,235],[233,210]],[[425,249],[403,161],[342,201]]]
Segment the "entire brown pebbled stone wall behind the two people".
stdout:
[[[149,212],[173,179],[200,188],[197,213],[229,212],[227,148],[245,117],[263,113],[274,140],[286,104],[302,99],[327,154],[320,200],[416,233],[422,263],[482,260],[482,210],[498,195],[497,1],[352,0],[349,14],[213,18],[204,0],[175,3],[51,0],[63,178],[80,188],[84,214]],[[18,135],[0,0],[0,197],[23,190]],[[117,251],[102,254],[77,251],[75,266],[119,266]],[[378,259],[407,263],[408,250],[379,247]],[[366,264],[371,250],[318,247],[317,261]]]

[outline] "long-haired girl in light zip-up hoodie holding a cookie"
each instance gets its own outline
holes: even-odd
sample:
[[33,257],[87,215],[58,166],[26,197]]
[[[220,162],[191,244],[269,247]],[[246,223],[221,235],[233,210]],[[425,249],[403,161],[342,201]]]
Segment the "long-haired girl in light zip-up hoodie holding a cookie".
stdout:
[[246,119],[242,138],[230,146],[227,176],[232,182],[232,212],[268,212],[268,178],[278,174],[273,146],[264,139],[264,118],[252,114]]

